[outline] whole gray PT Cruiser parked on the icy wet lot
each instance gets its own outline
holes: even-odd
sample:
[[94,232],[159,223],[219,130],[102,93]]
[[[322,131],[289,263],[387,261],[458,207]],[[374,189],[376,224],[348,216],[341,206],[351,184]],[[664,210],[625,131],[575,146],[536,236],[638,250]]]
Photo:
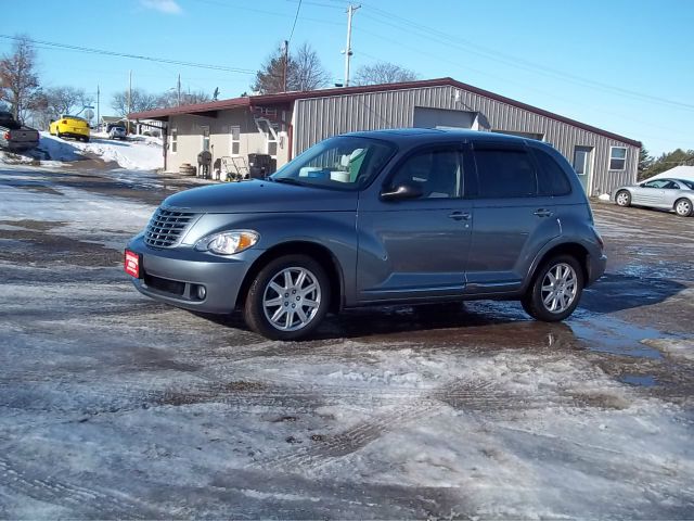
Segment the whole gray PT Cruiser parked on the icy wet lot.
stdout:
[[329,312],[394,303],[519,300],[563,320],[605,263],[553,148],[424,129],[337,136],[266,180],[171,195],[125,252],[145,295],[240,308],[277,340],[306,336]]

